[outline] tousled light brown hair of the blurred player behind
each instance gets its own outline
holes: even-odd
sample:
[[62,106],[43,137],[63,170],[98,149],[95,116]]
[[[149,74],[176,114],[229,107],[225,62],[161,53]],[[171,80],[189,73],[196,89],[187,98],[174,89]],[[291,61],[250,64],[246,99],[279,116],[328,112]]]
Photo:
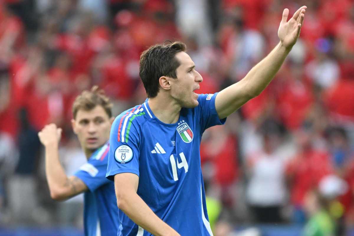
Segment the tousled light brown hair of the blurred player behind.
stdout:
[[73,103],[73,117],[76,119],[76,114],[80,109],[90,111],[97,105],[101,106],[107,113],[108,117],[112,117],[113,104],[105,95],[104,91],[99,89],[97,85],[91,88],[91,91],[85,90],[75,98]]

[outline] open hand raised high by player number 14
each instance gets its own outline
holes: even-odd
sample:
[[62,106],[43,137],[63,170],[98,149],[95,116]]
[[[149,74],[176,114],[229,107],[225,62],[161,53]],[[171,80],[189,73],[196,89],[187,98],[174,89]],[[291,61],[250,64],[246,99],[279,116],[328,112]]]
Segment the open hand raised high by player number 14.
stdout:
[[291,49],[296,43],[296,40],[299,38],[300,30],[304,22],[306,8],[307,6],[300,7],[289,21],[287,21],[289,9],[285,8],[283,11],[283,17],[278,29],[278,37],[282,45],[288,49]]

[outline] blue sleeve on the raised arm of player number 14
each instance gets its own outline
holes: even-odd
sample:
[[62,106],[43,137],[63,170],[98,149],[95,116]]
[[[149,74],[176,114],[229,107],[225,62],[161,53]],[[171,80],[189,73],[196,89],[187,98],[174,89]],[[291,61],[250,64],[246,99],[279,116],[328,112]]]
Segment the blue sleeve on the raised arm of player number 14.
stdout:
[[200,112],[200,125],[202,132],[209,127],[223,125],[226,121],[226,118],[219,119],[219,115],[216,111],[215,98],[217,94],[218,93],[199,94],[198,96],[198,108]]

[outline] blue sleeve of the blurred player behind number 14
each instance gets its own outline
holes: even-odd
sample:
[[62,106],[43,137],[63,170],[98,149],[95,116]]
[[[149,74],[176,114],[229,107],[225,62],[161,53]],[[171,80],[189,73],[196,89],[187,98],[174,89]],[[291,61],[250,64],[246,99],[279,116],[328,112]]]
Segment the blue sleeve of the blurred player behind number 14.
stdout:
[[107,152],[91,159],[82,165],[75,176],[81,179],[91,192],[95,191],[100,186],[109,183],[105,178],[107,171],[108,147]]

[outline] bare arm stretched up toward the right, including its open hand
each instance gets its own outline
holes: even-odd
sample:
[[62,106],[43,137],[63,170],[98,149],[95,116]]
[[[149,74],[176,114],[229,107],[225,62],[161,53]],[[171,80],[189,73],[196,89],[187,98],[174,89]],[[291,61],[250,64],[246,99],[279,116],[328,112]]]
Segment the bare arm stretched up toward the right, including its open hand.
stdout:
[[279,44],[242,80],[218,93],[215,107],[220,119],[232,114],[248,100],[258,96],[272,81],[299,38],[306,8],[306,6],[299,8],[289,21],[287,21],[289,9],[284,9],[278,30]]

